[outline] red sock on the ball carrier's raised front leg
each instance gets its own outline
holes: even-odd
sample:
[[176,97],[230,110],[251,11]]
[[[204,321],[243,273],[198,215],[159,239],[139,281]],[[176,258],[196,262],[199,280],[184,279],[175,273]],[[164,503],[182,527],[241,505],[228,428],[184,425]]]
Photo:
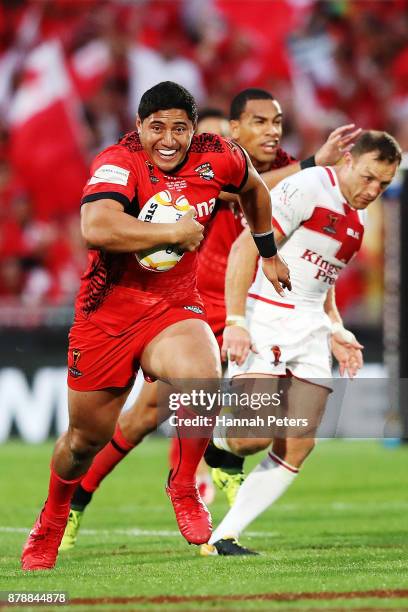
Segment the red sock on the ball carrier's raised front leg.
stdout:
[[[179,408],[177,416],[180,419],[180,417],[193,418],[197,415],[183,407]],[[213,419],[211,420],[213,421]],[[173,466],[171,482],[179,484],[195,483],[197,467],[207,448],[212,430],[213,425],[200,428],[177,426],[178,437],[175,438],[175,443],[177,442],[178,446],[178,463]],[[197,435],[197,432],[205,437],[192,437],[194,434]]]

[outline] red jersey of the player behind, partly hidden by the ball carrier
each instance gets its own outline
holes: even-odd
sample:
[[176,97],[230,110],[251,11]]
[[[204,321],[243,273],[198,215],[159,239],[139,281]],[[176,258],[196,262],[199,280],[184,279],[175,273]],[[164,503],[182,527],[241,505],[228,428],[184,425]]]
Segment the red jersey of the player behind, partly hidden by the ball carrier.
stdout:
[[[296,163],[283,149],[278,149],[269,170],[276,170]],[[198,258],[197,282],[200,293],[217,304],[224,303],[225,272],[233,242],[244,227],[245,217],[237,204],[219,201],[219,210],[211,222],[208,236]]]

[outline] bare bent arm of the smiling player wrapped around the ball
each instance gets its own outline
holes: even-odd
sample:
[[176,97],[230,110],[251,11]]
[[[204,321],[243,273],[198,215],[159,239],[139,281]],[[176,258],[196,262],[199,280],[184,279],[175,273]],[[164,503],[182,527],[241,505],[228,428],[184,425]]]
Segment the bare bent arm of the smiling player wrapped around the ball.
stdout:
[[194,251],[203,239],[203,226],[188,211],[177,223],[145,223],[124,212],[116,200],[87,202],[81,209],[81,232],[89,248],[114,253],[131,253],[177,244]]

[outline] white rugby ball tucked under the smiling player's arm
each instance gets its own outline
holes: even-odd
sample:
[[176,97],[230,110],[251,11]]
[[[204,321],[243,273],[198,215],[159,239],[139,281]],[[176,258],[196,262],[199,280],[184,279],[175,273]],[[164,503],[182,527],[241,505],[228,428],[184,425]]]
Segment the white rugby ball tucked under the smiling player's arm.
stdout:
[[[173,197],[170,191],[160,191],[152,196],[139,213],[145,223],[176,223],[191,208],[183,195]],[[178,264],[183,253],[170,244],[167,248],[154,247],[136,253],[136,259],[145,270],[167,272]]]

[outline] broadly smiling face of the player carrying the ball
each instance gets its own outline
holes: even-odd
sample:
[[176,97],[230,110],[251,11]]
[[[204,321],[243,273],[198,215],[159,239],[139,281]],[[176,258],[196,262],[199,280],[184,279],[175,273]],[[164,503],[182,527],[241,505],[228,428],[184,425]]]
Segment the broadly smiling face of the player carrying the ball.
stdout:
[[170,108],[136,120],[140,142],[152,162],[171,172],[187,155],[195,125],[185,110]]

